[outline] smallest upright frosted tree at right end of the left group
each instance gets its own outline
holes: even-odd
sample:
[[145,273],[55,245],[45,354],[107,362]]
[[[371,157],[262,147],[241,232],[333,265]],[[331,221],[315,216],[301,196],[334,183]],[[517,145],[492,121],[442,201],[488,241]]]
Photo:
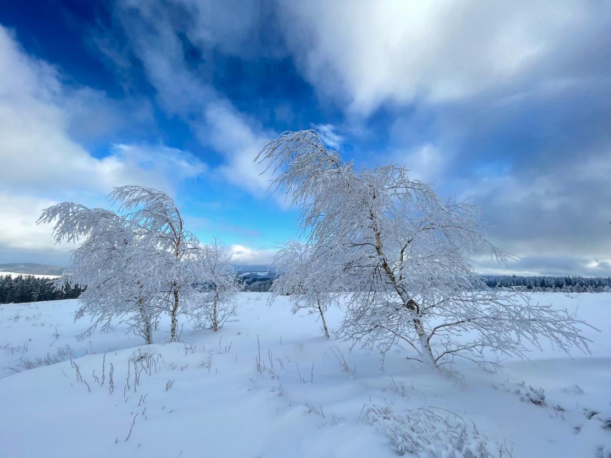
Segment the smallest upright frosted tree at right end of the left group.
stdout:
[[197,327],[218,331],[236,314],[235,297],[241,291],[240,278],[230,264],[231,256],[224,252],[217,239],[203,247],[199,256],[197,277],[205,280],[199,282],[200,299],[194,302],[189,314]]

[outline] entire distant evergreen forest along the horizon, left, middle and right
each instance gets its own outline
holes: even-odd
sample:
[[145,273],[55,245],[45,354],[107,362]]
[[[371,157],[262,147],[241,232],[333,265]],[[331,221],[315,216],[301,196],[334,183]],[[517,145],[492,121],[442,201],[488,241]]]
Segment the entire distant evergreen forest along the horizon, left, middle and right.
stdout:
[[[247,292],[265,293],[273,278],[246,275],[243,288]],[[524,291],[560,291],[566,293],[611,292],[611,277],[522,277],[519,275],[483,275],[489,288],[523,289]],[[54,291],[53,280],[32,275],[0,277],[0,304],[38,302],[40,300],[76,299],[82,289]]]

